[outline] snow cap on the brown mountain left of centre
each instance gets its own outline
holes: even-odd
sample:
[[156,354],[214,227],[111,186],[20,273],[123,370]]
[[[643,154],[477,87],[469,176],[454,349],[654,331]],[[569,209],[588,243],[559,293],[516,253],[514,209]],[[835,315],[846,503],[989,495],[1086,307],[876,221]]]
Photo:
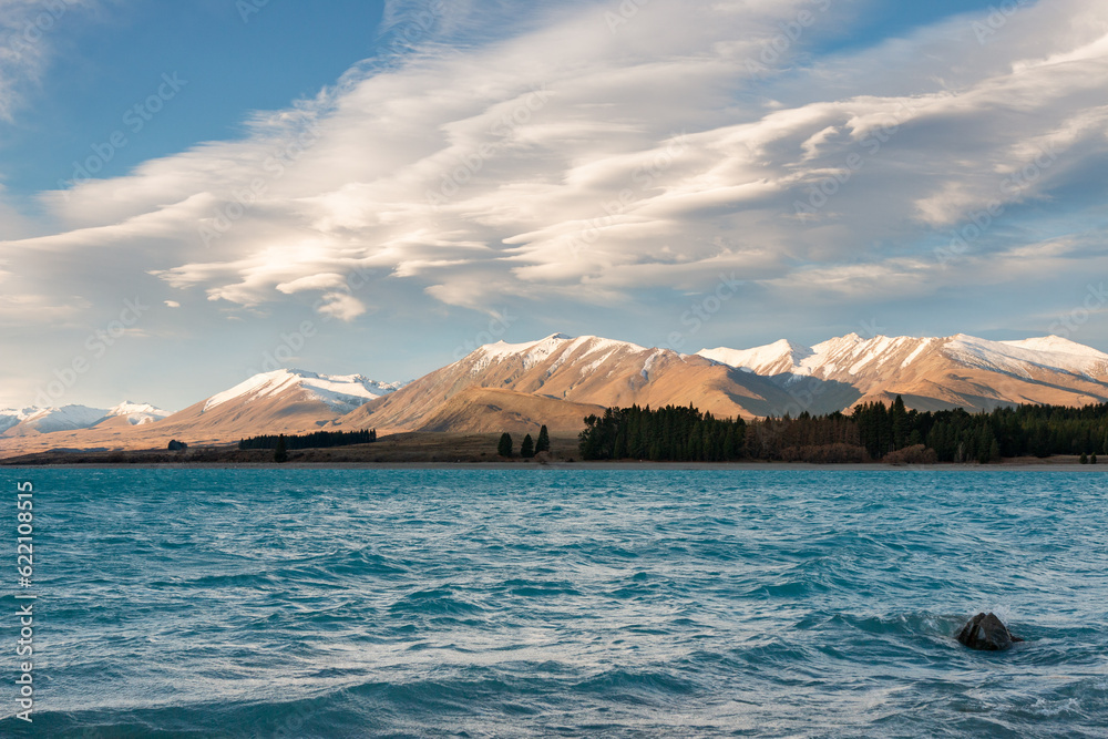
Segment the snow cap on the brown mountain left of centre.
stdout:
[[312,400],[349,412],[401,387],[402,382],[377,382],[361,374],[329,376],[299,369],[279,369],[255,374],[229,390],[212,396],[204,403],[204,410],[209,411],[239,398],[252,402],[300,389]]

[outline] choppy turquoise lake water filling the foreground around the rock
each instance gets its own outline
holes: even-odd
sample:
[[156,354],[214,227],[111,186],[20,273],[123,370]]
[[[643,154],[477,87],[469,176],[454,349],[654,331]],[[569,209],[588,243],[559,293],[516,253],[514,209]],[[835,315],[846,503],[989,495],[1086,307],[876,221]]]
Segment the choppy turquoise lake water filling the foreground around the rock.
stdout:
[[[3,736],[1108,736],[1097,473],[0,476]],[[964,649],[981,609],[1027,640]]]

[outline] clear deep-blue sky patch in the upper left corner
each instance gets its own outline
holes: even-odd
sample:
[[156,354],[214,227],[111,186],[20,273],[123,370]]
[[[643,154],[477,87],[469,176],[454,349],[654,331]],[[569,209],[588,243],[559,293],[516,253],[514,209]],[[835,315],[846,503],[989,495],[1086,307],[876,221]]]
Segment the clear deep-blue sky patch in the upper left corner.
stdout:
[[[4,132],[6,185],[30,198],[69,179],[90,142],[125,130],[126,111],[155,91],[165,72],[188,82],[187,95],[133,136],[99,176],[238,136],[253,111],[314,96],[375,55],[383,12],[380,2],[322,4],[306,11],[302,3],[271,0],[252,12],[226,0],[163,0],[66,13],[43,40],[64,37],[57,39],[61,48],[41,83],[23,91]],[[41,9],[24,12],[35,18]]]

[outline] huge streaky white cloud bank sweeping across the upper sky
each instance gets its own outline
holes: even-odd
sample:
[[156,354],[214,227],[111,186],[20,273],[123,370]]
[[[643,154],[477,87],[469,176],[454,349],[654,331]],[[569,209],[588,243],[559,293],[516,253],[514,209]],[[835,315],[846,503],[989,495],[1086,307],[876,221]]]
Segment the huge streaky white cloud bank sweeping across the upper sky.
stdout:
[[640,312],[636,291],[721,270],[781,300],[927,294],[957,281],[936,245],[981,214],[963,269],[1044,242],[1043,208],[1098,207],[1059,193],[1102,188],[1101,4],[1044,0],[987,43],[957,17],[812,57],[861,7],[835,3],[776,64],[781,23],[819,3],[632,4],[392,3],[378,63],[243,140],[43,194],[54,233],[0,255],[111,254],[233,308],[345,321],[373,310],[351,275],[412,307]]

